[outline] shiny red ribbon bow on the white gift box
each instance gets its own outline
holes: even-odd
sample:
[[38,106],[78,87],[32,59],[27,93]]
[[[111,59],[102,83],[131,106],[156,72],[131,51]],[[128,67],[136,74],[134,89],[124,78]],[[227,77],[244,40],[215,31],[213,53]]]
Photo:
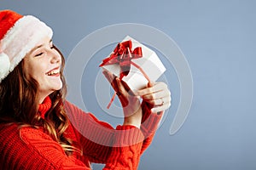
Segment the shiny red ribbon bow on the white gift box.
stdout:
[[143,57],[143,51],[141,47],[137,47],[134,50],[131,50],[131,40],[126,42],[120,42],[116,48],[113,50],[113,54],[111,54],[107,59],[103,59],[103,65],[113,65],[119,63],[121,73],[120,79],[129,74],[131,69],[131,59],[138,59]]

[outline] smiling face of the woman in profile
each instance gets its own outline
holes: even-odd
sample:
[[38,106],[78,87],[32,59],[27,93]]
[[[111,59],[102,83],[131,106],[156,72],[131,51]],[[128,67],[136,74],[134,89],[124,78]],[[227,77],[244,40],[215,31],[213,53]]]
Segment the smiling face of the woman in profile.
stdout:
[[61,89],[61,54],[55,50],[49,37],[38,42],[38,45],[26,55],[24,69],[26,77],[32,77],[38,82],[40,102],[55,90]]

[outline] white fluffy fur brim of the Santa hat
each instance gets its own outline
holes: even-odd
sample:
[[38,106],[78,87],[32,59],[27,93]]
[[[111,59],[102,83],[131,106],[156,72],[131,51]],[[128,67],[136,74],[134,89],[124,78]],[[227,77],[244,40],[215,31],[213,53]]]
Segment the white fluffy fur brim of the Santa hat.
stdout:
[[[17,20],[0,42],[0,51],[5,54],[4,62],[6,61],[6,55],[9,57],[9,66],[6,65],[3,69],[5,73],[2,73],[2,64],[0,64],[0,82],[8,76],[9,72],[15,69],[15,66],[32,48],[36,47],[40,40],[44,37],[51,38],[52,35],[51,28],[32,15],[26,15]],[[9,67],[8,71],[6,71],[7,67]]]

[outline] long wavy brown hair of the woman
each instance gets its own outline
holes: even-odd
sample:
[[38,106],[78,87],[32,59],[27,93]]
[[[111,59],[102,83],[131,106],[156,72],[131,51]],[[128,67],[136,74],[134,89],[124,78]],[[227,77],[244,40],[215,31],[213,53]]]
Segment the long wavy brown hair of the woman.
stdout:
[[[61,54],[58,48],[55,50]],[[38,82],[32,77],[26,77],[23,65],[24,59],[0,83],[0,123],[18,123],[19,127],[44,127],[51,138],[61,144],[66,154],[71,155],[77,149],[72,146],[72,140],[64,135],[68,120],[63,108],[67,94],[63,55],[61,54],[60,72],[62,88],[49,95],[52,106],[45,119],[38,114]]]

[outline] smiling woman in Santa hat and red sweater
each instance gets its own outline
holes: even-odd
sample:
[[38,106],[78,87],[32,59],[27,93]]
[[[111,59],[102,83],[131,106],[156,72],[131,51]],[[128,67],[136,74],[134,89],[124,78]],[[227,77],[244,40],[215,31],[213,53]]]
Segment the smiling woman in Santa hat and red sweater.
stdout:
[[104,71],[125,115],[114,129],[65,99],[64,58],[51,37],[37,18],[0,11],[0,169],[137,169],[171,105],[166,84],[131,94]]

